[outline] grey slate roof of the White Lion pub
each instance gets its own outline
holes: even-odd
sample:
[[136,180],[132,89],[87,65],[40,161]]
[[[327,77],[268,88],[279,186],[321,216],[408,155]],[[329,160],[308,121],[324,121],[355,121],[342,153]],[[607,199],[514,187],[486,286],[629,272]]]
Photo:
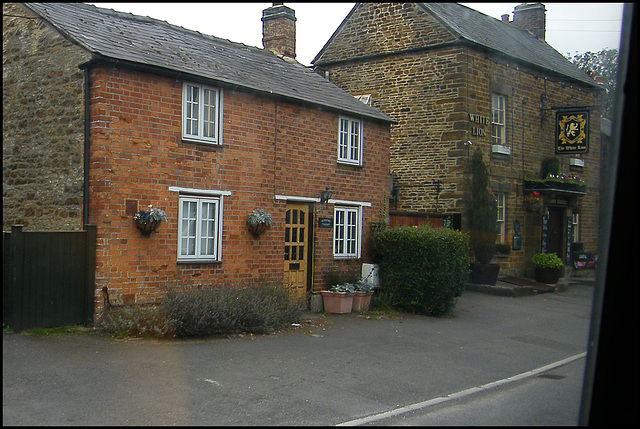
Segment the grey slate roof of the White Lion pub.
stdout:
[[[418,3],[425,11],[439,20],[461,41],[478,45],[515,58],[524,63],[541,68],[551,74],[562,75],[582,83],[600,87],[593,79],[572,64],[567,58],[551,47],[547,42],[537,39],[515,24],[506,24],[481,12],[457,3]],[[353,14],[358,4],[340,24],[342,27]],[[340,27],[334,32],[340,31]],[[333,38],[333,36],[332,36]],[[331,39],[312,60],[320,59]]]

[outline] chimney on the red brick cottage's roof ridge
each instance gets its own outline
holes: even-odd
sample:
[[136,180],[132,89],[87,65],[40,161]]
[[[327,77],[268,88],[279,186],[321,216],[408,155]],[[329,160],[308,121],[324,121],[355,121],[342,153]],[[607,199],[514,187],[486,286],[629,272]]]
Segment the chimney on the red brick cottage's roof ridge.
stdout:
[[262,46],[279,57],[296,57],[296,13],[282,3],[262,11]]

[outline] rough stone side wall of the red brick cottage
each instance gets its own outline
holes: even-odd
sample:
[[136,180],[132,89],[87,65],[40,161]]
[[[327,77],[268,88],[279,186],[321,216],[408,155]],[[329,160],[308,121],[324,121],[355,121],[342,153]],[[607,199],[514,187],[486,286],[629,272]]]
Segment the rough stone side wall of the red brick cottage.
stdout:
[[3,3],[2,229],[82,229],[87,53]]

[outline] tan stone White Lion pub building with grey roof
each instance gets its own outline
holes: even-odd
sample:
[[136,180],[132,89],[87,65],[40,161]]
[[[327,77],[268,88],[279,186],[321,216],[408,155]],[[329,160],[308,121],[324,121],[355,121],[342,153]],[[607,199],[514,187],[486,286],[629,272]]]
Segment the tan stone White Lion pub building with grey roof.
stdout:
[[[456,3],[358,3],[313,64],[397,122],[392,224],[444,216],[465,230],[469,160],[480,148],[504,243],[494,262],[502,275],[531,276],[535,253],[569,264],[572,242],[597,251],[604,90],[545,42],[544,5],[513,14],[500,21]],[[554,162],[554,176],[579,180],[536,182]]]

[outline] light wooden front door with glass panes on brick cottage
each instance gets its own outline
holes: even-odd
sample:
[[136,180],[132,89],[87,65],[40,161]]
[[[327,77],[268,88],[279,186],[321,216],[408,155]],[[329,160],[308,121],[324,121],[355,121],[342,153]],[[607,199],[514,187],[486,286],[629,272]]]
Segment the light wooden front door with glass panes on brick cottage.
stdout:
[[284,221],[284,283],[295,298],[305,299],[309,269],[309,207],[287,204]]

